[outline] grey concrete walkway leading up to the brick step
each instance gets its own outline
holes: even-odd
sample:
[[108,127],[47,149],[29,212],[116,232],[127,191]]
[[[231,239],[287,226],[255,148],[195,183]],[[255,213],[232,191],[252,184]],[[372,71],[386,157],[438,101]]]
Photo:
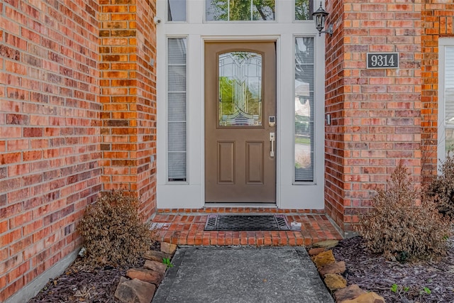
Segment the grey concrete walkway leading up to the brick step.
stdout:
[[153,303],[333,302],[304,247],[184,247],[172,263]]

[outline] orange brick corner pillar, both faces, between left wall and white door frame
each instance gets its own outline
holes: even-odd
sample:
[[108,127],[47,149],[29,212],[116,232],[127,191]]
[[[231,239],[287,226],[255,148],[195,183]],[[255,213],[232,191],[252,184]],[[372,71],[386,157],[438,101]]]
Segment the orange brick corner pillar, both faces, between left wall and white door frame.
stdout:
[[156,209],[155,4],[100,3],[102,182],[137,194],[148,217]]

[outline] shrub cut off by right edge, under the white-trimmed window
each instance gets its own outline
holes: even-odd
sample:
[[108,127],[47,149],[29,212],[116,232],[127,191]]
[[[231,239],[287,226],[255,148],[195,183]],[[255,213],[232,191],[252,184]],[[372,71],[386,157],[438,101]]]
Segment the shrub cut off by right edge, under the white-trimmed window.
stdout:
[[433,177],[428,184],[426,194],[432,197],[437,209],[451,221],[454,219],[454,156],[448,153],[446,160],[441,163],[441,175]]

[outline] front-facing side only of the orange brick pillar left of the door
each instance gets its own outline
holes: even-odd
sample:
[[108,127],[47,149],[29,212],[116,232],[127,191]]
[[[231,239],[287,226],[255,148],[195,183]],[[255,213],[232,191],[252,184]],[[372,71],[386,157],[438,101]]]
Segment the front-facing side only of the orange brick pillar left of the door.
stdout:
[[135,0],[101,0],[101,166],[104,190],[137,189]]

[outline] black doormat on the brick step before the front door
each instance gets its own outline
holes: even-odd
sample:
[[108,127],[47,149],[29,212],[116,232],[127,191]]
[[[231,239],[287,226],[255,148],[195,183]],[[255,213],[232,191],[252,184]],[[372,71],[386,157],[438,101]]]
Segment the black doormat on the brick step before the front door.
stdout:
[[289,231],[284,215],[217,215],[211,214],[205,231]]

